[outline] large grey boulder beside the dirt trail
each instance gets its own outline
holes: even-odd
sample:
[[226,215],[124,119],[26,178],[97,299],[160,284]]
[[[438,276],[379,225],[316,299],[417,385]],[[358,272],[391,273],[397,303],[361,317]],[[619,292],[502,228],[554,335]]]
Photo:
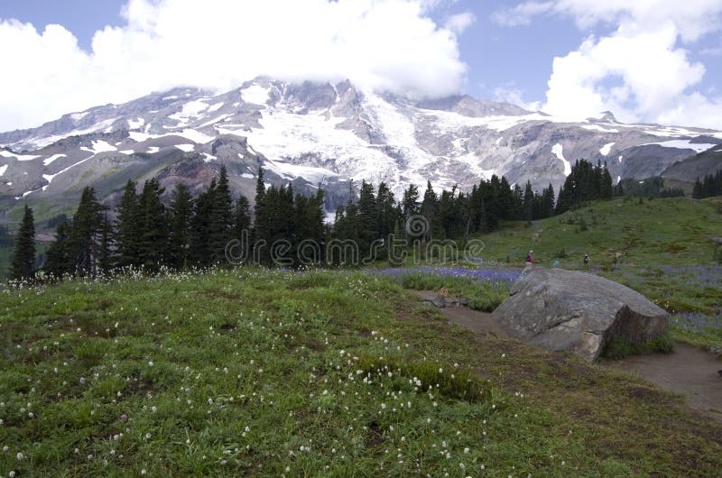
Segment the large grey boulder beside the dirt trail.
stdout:
[[642,294],[586,272],[527,267],[493,317],[509,335],[592,362],[611,337],[643,344],[668,314]]

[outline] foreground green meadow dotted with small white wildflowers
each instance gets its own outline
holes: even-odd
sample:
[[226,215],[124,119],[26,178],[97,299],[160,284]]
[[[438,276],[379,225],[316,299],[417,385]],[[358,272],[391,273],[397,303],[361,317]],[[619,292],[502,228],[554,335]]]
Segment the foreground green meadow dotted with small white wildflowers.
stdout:
[[359,272],[5,290],[0,336],[0,476],[722,468],[722,427],[679,398],[450,327]]

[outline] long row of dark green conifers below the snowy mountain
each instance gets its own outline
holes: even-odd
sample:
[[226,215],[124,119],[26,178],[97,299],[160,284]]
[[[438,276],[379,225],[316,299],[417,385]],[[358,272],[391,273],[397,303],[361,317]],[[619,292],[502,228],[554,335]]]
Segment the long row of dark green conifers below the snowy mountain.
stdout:
[[[493,231],[503,221],[542,219],[581,202],[609,198],[612,185],[606,165],[595,167],[585,160],[572,167],[559,200],[551,184],[539,193],[529,181],[524,188],[512,187],[504,176],[495,175],[466,193],[456,187],[437,193],[428,182],[421,197],[419,188],[410,185],[400,199],[384,182],[374,188],[362,181],[357,199],[349,193],[347,204],[338,207],[333,225],[324,224],[323,189],[307,197],[294,193],[291,184],[268,186],[261,169],[253,214],[247,198],[232,198],[225,166],[195,198],[189,188],[178,184],[166,204],[165,190],[155,178],[145,181],[140,193],[137,189],[138,184],[128,180],[115,214],[110,215],[95,190],[85,188],[72,218],[58,221],[43,270],[56,278],[94,277],[124,268],[151,273],[163,266],[204,268],[229,259],[268,264],[272,255],[293,267],[301,253],[316,262],[340,265],[342,258],[325,257],[324,244],[350,240],[366,253],[381,241],[374,252],[380,258],[390,234],[421,241],[467,238]],[[423,216],[421,231],[407,227],[414,216]],[[15,240],[11,279],[32,278],[34,258],[32,209],[26,206]]]

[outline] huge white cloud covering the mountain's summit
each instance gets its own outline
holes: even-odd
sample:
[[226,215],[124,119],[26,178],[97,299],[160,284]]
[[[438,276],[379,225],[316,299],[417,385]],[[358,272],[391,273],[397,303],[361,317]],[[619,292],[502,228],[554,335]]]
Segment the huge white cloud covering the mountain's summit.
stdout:
[[416,97],[457,93],[467,69],[456,38],[464,22],[442,27],[428,16],[446,3],[130,0],[126,24],[96,32],[90,52],[60,25],[37,32],[4,21],[0,44],[14,48],[4,49],[0,131],[169,87],[227,90],[259,75],[350,78]]

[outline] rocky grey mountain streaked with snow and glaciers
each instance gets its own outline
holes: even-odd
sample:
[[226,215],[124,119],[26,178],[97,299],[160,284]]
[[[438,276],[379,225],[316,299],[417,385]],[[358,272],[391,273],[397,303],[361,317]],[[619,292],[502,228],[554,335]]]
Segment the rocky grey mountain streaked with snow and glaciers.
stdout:
[[419,102],[348,81],[255,78],[221,95],[176,88],[0,133],[0,202],[46,201],[52,216],[86,185],[111,202],[127,179],[202,188],[225,163],[249,198],[261,167],[297,190],[322,186],[332,210],[349,179],[384,180],[397,194],[427,180],[470,188],[493,174],[558,188],[579,158],[606,161],[615,178],[644,178],[720,144],[719,132],[621,124],[608,112],[579,121],[466,96]]

